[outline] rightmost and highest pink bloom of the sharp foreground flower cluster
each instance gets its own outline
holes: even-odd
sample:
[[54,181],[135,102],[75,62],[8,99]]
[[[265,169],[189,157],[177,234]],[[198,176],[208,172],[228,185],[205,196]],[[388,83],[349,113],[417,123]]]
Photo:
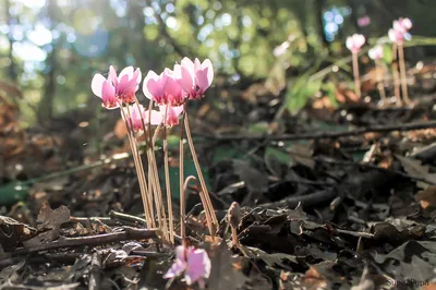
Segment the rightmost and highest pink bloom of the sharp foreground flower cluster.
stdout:
[[174,73],[182,88],[187,93],[190,99],[199,99],[214,80],[214,68],[209,59],[194,62],[184,58],[181,64],[174,65]]

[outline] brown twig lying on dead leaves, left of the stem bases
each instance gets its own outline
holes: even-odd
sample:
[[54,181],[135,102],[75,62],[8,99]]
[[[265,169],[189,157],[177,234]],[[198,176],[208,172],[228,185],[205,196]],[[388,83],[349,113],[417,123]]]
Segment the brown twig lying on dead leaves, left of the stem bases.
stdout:
[[131,227],[124,227],[124,231],[120,232],[111,232],[88,237],[80,237],[80,238],[61,238],[51,243],[37,244],[34,246],[24,246],[16,249],[11,254],[13,256],[29,254],[35,252],[62,249],[62,247],[74,247],[82,245],[101,245],[116,243],[120,241],[126,240],[144,240],[144,239],[156,239],[158,235],[157,229],[135,229]]

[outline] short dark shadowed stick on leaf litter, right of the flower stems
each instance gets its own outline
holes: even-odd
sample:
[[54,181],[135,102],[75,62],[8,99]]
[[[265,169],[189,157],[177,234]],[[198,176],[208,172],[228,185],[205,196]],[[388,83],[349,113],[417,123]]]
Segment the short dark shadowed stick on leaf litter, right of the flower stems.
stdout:
[[266,203],[266,204],[262,204],[259,206],[263,206],[263,207],[283,207],[283,206],[296,207],[300,203],[303,206],[312,206],[312,205],[317,205],[320,203],[329,202],[332,198],[335,198],[336,196],[338,196],[337,191],[329,189],[329,190],[318,191],[318,192],[306,194],[306,195],[290,196],[290,197],[281,200],[279,202]]

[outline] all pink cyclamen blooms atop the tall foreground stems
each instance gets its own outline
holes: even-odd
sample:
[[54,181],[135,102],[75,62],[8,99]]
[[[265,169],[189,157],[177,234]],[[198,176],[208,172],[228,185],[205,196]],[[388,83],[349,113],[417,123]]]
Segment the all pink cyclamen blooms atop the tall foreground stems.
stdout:
[[[132,129],[137,132],[143,130],[142,120],[157,125],[166,123],[173,126],[179,123],[179,116],[183,111],[183,104],[187,99],[199,99],[210,86],[214,78],[214,69],[210,60],[203,63],[184,58],[181,64],[175,64],[173,70],[165,69],[160,75],[149,71],[144,78],[144,95],[159,106],[159,111],[144,109],[143,106],[132,106],[135,102],[136,92],[140,88],[141,70],[133,67],[123,69],[117,75],[112,65],[109,67],[108,77],[97,73],[93,77],[93,93],[101,98],[102,107],[117,109],[122,104],[130,106]],[[138,108],[140,107],[140,108]],[[150,117],[149,113],[152,114]],[[165,116],[167,116],[166,120]]]

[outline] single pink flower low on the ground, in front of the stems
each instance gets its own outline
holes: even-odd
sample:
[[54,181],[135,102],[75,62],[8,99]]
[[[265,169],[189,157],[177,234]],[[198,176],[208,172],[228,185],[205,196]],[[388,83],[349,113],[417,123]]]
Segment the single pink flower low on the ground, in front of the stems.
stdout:
[[199,287],[204,288],[204,279],[209,278],[210,268],[210,259],[205,250],[193,246],[185,249],[183,245],[179,245],[175,247],[175,261],[164,278],[174,278],[184,273],[187,285],[198,282]]

